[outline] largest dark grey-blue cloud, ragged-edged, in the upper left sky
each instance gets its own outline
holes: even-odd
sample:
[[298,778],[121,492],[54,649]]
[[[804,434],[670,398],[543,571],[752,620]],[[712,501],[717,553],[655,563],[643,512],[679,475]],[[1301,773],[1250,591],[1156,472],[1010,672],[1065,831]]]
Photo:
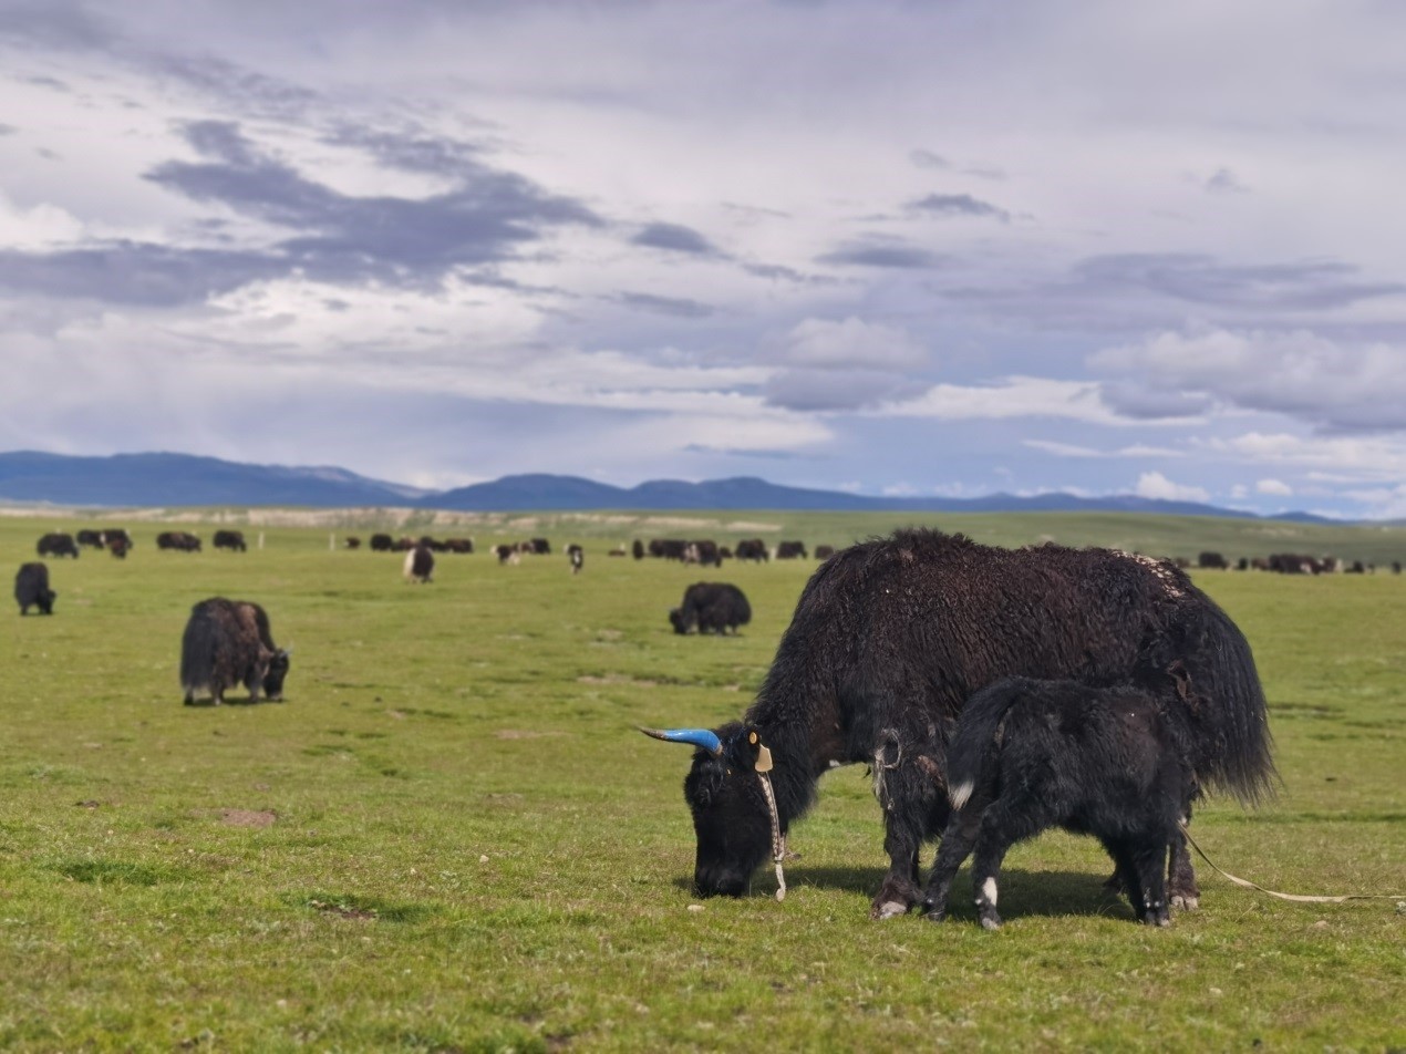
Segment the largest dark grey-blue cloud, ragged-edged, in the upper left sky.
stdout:
[[302,232],[276,249],[325,280],[439,281],[453,267],[513,256],[543,229],[599,219],[515,173],[463,162],[460,187],[429,198],[350,197],[259,152],[239,126],[197,121],[186,138],[204,162],[166,162],[150,181],[193,201]]

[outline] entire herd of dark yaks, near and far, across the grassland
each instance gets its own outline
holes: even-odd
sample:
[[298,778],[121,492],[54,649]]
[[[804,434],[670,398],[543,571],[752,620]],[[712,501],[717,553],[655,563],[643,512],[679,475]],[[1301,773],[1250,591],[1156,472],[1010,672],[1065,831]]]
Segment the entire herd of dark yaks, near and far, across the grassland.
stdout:
[[[214,544],[246,549],[239,531],[218,531]],[[80,545],[125,557],[132,540],[120,530],[46,534],[38,552],[76,558]],[[166,531],[157,547],[194,552],[200,538]],[[368,548],[405,552],[405,578],[427,583],[436,552],[472,552],[474,542],[374,534]],[[583,549],[565,551],[579,573]],[[501,564],[550,552],[544,538],[492,549]],[[808,558],[799,541],[761,540],[728,548],[659,538],[630,552],[699,566]],[[1170,906],[1197,905],[1184,835],[1194,804],[1218,790],[1253,805],[1277,774],[1250,645],[1187,576],[1188,561],[1054,544],[1004,549],[925,528],[839,551],[820,545],[814,557],[818,569],[747,713],[720,728],[641,729],[696,748],[683,790],[700,895],[744,894],[768,859],[780,878],[786,838],[820,776],[858,763],[873,774],[889,856],[876,919],[914,908],[942,919],[953,876],[974,852],[977,918],[997,928],[1007,849],[1050,826],[1102,842],[1109,885],[1139,920],[1167,925]],[[1286,554],[1232,565],[1212,552],[1197,566],[1368,569]],[[21,614],[49,614],[55,597],[44,564],[20,568]],[[678,634],[724,635],[752,610],[735,585],[696,582],[668,616]],[[187,704],[198,693],[218,704],[236,686],[250,701],[280,700],[288,668],[259,604],[211,597],[191,610],[180,663]],[[934,839],[924,883],[920,854]]]

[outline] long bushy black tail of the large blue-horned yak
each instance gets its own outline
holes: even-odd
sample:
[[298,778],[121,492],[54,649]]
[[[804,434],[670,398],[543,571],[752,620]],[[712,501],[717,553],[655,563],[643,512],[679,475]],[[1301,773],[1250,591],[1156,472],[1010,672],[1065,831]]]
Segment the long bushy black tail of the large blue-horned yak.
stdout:
[[1201,646],[1188,648],[1187,673],[1198,739],[1209,746],[1198,759],[1197,776],[1229,791],[1243,805],[1274,795],[1274,767],[1268,707],[1244,634],[1230,617],[1208,601],[1191,627]]

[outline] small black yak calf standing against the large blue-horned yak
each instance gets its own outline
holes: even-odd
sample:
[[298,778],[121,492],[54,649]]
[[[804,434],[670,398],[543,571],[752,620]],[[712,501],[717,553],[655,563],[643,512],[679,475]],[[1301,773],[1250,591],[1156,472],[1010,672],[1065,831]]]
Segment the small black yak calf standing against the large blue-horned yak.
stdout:
[[1130,686],[1008,677],[977,691],[948,748],[953,811],[928,880],[929,916],[946,915],[952,878],[974,846],[977,918],[1000,926],[1005,852],[1062,826],[1102,842],[1133,913],[1168,925],[1167,852],[1197,793],[1180,724],[1175,707]]

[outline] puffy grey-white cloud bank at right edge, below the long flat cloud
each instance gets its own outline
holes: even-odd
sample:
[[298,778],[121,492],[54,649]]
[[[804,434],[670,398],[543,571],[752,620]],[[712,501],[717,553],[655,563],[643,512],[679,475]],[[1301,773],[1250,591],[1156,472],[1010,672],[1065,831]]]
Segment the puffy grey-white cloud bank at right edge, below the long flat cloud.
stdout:
[[1115,405],[1211,399],[1281,413],[1324,430],[1406,429],[1406,350],[1343,344],[1308,330],[1159,333],[1108,349],[1090,365],[1123,378]]

